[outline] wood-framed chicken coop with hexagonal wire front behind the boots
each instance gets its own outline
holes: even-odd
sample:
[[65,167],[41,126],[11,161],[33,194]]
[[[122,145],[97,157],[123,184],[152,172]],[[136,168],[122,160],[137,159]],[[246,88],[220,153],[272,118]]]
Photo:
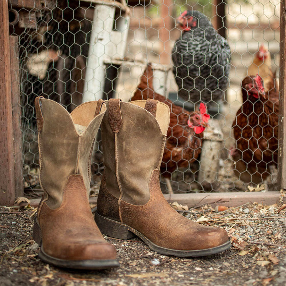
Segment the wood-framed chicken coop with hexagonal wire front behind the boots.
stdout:
[[[160,185],[170,201],[238,205],[284,195],[284,0],[7,0],[0,7],[0,205],[17,197],[36,204],[43,192],[37,96],[69,112],[99,99],[165,102],[171,120]],[[103,169],[99,132],[93,202]]]

